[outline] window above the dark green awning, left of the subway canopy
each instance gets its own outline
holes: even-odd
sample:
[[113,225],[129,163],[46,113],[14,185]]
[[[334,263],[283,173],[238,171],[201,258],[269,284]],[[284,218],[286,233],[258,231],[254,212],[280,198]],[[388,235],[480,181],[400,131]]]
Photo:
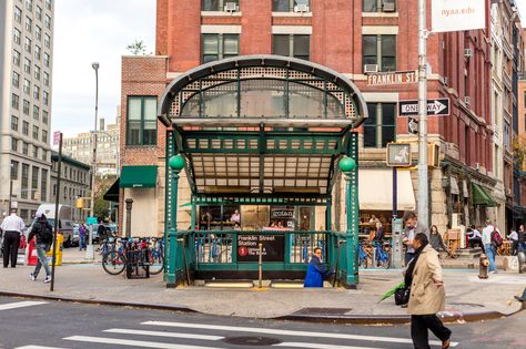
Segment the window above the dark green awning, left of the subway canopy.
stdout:
[[127,144],[156,144],[156,105],[155,96],[128,97]]

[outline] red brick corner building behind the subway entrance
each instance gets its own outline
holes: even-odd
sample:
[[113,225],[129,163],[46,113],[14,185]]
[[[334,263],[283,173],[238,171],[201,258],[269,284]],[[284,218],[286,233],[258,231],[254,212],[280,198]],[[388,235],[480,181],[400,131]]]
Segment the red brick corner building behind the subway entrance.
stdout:
[[[448,116],[428,119],[428,141],[439,145],[439,162],[429,171],[431,223],[441,232],[447,224],[495,218],[495,212],[486,209],[492,203],[479,197],[490,199],[495,186],[488,16],[486,22],[484,30],[432,34],[427,41],[428,99],[451,100]],[[397,103],[416,100],[417,86],[372,86],[365,70],[417,70],[417,0],[158,0],[155,55],[122,59],[121,163],[158,166],[159,177],[154,188],[121,189],[120,207],[123,198],[132,197],[133,212],[142,213],[132,226],[162,232],[165,129],[153,121],[149,96],[159,99],[178,74],[204,62],[280,54],[344,73],[363,92],[370,119],[360,130],[360,166],[367,174],[361,175],[361,209],[364,219],[374,213],[388,220],[391,186],[382,188],[367,178],[374,172],[375,178],[392,183],[385,166],[388,142],[411,142],[416,158],[417,137],[407,132],[407,117],[398,116]],[[415,209],[416,170],[399,173],[398,209]],[[180,197],[184,195],[183,189]],[[151,223],[142,222],[144,217],[152,217]]]

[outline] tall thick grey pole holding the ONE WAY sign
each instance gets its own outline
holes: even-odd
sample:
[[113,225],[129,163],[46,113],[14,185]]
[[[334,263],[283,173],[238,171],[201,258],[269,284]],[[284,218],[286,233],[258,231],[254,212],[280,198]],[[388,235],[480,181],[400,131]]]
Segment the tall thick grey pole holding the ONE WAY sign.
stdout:
[[426,0],[418,0],[418,222],[429,226],[427,173],[427,29]]

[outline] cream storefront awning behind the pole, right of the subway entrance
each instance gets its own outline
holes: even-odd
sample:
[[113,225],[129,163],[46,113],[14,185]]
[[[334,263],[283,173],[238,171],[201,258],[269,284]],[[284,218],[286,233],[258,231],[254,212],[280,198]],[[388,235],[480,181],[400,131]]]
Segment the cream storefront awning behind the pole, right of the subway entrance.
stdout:
[[[409,171],[397,172],[397,209],[416,209]],[[393,209],[393,171],[358,170],[360,209]]]

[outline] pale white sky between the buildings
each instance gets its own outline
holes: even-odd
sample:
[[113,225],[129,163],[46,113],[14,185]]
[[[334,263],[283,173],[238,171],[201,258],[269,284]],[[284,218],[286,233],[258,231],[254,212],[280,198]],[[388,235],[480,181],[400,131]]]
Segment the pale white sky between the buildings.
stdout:
[[[198,0],[196,0],[198,1]],[[526,27],[526,0],[516,0]],[[114,123],[121,95],[121,55],[142,40],[155,45],[155,0],[55,0],[52,131],[74,136],[94,127],[99,62],[99,119]]]

